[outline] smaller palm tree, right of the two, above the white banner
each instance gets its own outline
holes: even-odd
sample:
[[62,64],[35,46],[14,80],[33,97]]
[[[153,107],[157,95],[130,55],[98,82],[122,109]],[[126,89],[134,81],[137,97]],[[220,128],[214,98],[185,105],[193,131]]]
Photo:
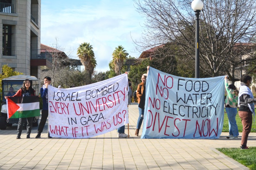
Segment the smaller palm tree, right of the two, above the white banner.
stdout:
[[129,55],[126,53],[126,50],[124,50],[124,47],[118,46],[114,52],[112,53],[112,61],[115,65],[115,72],[116,75],[121,74],[121,69],[124,64],[124,60],[126,59],[126,56]]

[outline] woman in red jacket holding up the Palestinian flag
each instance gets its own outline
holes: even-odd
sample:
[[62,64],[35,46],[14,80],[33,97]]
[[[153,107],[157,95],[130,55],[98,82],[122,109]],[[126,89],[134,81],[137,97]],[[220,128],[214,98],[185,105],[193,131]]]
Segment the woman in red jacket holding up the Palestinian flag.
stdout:
[[[20,97],[20,96],[35,96],[35,90],[32,88],[32,81],[29,79],[25,79],[23,81],[22,87],[16,94],[14,94],[12,97]],[[5,99],[7,99],[7,96],[4,96]],[[16,139],[20,139],[20,135],[22,132],[22,126],[27,121],[27,138],[30,138],[30,133],[32,129],[32,121],[33,117],[27,117],[27,118],[20,118],[18,123],[18,129],[17,129],[17,137]]]

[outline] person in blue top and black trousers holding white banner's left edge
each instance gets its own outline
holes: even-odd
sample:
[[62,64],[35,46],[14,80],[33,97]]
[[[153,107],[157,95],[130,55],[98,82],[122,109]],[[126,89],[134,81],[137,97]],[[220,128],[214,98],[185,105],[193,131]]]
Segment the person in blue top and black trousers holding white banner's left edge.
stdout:
[[[51,80],[52,79],[50,77],[46,76],[44,78],[44,85],[40,89],[41,97],[43,99],[43,110],[42,110],[41,121],[39,123],[38,130],[37,130],[36,138],[41,137],[41,133],[44,129],[44,125],[45,125],[45,122],[46,122],[47,117],[48,117],[48,85],[51,84]],[[48,138],[52,138],[52,137],[50,137],[49,132],[48,132]]]

